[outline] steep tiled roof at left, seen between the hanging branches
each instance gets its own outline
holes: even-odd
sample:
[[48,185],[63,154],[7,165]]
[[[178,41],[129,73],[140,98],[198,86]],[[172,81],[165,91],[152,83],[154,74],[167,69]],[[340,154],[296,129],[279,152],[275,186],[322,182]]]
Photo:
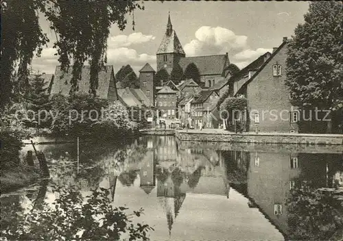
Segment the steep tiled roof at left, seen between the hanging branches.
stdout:
[[[99,71],[99,87],[97,88],[97,95],[99,98],[107,99],[108,90],[110,87],[110,78],[113,74],[113,66],[105,66],[105,69]],[[51,86],[51,94],[64,94],[68,95],[71,89],[70,80],[72,77],[71,71],[73,71],[72,66],[69,67],[67,73],[61,71],[60,66],[56,66],[54,83]],[[79,92],[88,93],[89,92],[89,79],[91,73],[91,66],[83,66],[81,79],[78,81]]]

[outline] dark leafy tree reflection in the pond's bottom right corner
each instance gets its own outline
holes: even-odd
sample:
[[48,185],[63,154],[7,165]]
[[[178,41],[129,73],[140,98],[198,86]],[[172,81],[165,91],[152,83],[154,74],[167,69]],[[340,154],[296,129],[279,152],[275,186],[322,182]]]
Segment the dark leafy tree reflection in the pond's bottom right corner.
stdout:
[[292,189],[287,200],[291,239],[331,240],[342,238],[343,201],[332,192],[321,192],[310,182],[302,181]]

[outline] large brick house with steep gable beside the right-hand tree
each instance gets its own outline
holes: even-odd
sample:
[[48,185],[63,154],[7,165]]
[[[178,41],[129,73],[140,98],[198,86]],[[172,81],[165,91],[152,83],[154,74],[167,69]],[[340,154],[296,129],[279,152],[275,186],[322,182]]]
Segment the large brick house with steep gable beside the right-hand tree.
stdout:
[[287,38],[241,87],[235,97],[248,99],[247,129],[262,132],[298,132],[300,113],[290,102],[285,86]]

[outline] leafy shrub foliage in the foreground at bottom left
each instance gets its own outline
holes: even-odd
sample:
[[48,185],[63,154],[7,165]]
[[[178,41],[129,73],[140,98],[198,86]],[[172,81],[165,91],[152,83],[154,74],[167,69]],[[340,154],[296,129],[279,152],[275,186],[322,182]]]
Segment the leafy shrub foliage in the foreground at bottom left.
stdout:
[[57,188],[53,205],[43,203],[27,213],[17,213],[1,236],[10,240],[150,240],[149,225],[134,224],[143,210],[127,214],[127,207],[113,207],[109,191],[93,190],[84,201],[78,190]]

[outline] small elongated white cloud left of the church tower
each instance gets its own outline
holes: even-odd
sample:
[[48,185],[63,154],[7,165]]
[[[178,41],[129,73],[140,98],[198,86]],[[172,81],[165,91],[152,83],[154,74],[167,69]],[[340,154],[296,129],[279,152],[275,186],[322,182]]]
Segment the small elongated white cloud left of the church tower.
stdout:
[[131,45],[142,44],[144,42],[149,42],[154,40],[155,36],[144,35],[141,32],[132,33],[130,35],[117,35],[108,38],[108,47],[118,48],[118,47],[130,47]]

